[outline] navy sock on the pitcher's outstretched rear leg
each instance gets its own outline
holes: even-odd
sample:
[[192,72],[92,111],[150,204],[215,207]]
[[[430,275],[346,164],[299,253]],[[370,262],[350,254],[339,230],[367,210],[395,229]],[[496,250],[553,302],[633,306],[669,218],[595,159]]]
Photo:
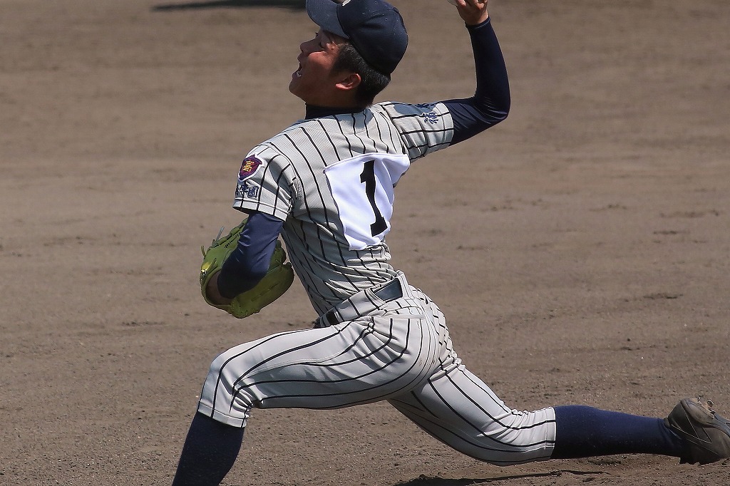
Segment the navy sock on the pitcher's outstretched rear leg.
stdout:
[[683,442],[664,420],[608,412],[591,406],[556,406],[553,459],[612,454],[661,454],[680,457]]

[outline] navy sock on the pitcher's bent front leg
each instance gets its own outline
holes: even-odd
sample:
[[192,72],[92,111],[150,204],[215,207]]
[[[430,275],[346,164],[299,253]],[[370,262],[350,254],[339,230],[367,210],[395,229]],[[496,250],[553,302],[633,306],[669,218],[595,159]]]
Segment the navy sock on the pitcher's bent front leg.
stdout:
[[172,486],[219,485],[236,462],[243,431],[196,413]]

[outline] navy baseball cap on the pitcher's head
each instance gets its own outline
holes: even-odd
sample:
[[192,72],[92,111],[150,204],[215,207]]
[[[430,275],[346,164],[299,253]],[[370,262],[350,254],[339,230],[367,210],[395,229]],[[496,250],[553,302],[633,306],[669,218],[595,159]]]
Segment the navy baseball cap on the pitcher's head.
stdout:
[[307,14],[320,28],[349,40],[370,66],[388,76],[408,47],[400,12],[383,0],[307,0]]

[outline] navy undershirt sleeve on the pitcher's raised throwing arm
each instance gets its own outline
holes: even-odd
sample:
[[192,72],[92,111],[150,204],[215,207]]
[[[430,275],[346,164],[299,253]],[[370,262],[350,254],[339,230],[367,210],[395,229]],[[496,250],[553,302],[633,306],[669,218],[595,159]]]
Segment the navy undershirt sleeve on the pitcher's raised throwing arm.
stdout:
[[451,145],[495,126],[507,118],[510,111],[510,82],[502,49],[499,47],[491,19],[477,26],[467,26],[472,39],[477,90],[466,99],[443,101],[451,113],[454,136]]

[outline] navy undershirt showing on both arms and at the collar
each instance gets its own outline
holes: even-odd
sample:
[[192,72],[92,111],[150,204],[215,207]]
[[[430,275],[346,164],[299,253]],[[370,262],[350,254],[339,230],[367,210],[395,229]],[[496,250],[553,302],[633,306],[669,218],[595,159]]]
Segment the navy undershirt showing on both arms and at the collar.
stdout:
[[[454,124],[450,145],[463,142],[496,125],[510,111],[510,83],[502,50],[499,48],[491,20],[467,26],[474,50],[477,90],[471,98],[442,101]],[[356,111],[361,111],[357,109]],[[307,106],[307,118],[353,112],[351,109]],[[218,290],[226,298],[255,287],[266,275],[274,245],[284,222],[276,217],[254,212],[241,231],[238,246],[218,274]]]

